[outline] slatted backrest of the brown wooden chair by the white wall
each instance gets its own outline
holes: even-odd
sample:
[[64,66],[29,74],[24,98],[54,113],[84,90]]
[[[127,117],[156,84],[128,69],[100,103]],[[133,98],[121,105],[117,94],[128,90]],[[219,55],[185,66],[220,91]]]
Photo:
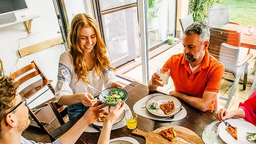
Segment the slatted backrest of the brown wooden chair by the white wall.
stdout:
[[32,69],[36,69],[35,71],[29,73],[29,74],[26,74],[25,76],[21,77],[20,79],[16,80],[19,85],[21,85],[22,83],[24,83],[25,81],[37,76],[37,75],[40,75],[42,77],[42,79],[46,79],[45,75],[43,74],[43,72],[41,71],[41,69],[39,68],[39,66],[37,65],[37,63],[33,60],[31,62],[31,64],[15,71],[14,73],[12,73],[10,75],[10,77],[12,77],[13,79],[16,79],[17,77],[23,75],[24,73],[32,70]]

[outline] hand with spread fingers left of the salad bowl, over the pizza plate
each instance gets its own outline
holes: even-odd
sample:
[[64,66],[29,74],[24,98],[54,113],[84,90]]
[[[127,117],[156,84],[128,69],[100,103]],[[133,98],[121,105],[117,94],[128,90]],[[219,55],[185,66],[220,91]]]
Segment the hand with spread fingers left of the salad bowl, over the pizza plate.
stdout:
[[99,117],[103,116],[102,113],[104,113],[105,111],[102,108],[106,107],[106,105],[97,106],[99,102],[100,101],[96,101],[96,103],[85,112],[83,118],[85,121],[87,121],[88,124],[92,124]]

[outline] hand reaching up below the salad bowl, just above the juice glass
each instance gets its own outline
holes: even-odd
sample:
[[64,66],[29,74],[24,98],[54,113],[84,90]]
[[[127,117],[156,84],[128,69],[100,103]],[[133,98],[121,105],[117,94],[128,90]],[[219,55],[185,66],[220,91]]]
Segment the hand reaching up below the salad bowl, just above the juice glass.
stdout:
[[116,120],[120,117],[120,115],[123,113],[124,108],[125,102],[117,103],[113,111],[111,110],[111,107],[108,107],[109,114],[106,116],[106,123],[109,122],[113,125],[116,122]]

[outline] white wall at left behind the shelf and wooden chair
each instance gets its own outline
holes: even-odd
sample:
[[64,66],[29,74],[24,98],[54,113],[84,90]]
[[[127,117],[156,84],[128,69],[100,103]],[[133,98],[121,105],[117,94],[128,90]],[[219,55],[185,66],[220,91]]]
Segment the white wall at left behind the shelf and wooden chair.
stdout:
[[[16,17],[29,14],[41,15],[32,21],[31,32],[40,33],[30,35],[28,39],[22,39],[20,48],[33,45],[57,36],[60,30],[56,17],[55,8],[52,0],[26,0],[29,10],[15,13]],[[24,22],[0,28],[0,59],[3,61],[5,74],[16,71],[18,39],[27,37],[28,32]],[[30,64],[35,60],[42,69],[46,77],[53,80],[52,85],[55,87],[57,81],[58,61],[61,53],[65,51],[64,45],[57,45],[52,48],[20,58],[17,64],[18,69]],[[33,80],[31,80],[33,81]],[[30,82],[31,82],[30,81]],[[27,85],[24,83],[24,85]],[[22,89],[24,85],[21,85]],[[33,96],[35,97],[35,96]],[[29,106],[34,107],[42,102],[49,100],[54,95],[48,91]],[[30,101],[30,100],[28,100]]]

